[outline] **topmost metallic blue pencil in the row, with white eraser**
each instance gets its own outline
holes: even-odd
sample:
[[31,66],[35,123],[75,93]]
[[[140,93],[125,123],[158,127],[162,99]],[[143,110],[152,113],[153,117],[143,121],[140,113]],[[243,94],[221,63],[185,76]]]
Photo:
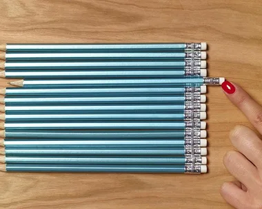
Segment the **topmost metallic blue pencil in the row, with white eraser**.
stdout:
[[2,44],[6,52],[177,52],[207,50],[207,43]]

